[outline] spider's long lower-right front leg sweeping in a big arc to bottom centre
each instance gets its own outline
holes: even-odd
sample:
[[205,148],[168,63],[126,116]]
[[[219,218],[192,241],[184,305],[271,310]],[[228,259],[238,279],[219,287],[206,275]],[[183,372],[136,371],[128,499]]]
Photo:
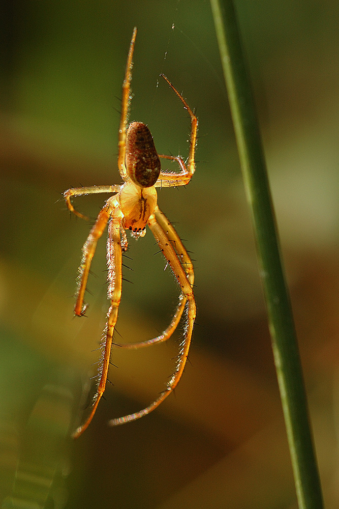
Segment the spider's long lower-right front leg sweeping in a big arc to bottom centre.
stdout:
[[175,274],[175,277],[178,280],[180,290],[183,293],[184,297],[187,299],[187,306],[188,306],[188,313],[187,313],[187,326],[185,328],[184,332],[184,339],[180,345],[180,352],[178,355],[178,361],[175,368],[175,371],[170,379],[170,381],[167,384],[167,387],[165,391],[161,394],[161,396],[155,400],[151,405],[144,408],[143,410],[140,410],[139,412],[125,415],[125,417],[119,417],[117,419],[111,419],[109,421],[110,426],[117,426],[120,424],[124,424],[125,422],[130,422],[132,420],[139,419],[140,417],[143,417],[144,415],[147,415],[149,412],[157,408],[168,396],[169,394],[175,389],[177,386],[181,375],[183,373],[187,357],[189,354],[189,349],[191,345],[191,338],[192,338],[192,332],[193,332],[193,325],[194,320],[196,316],[196,304],[193,296],[193,290],[192,286],[190,284],[190,281],[188,280],[186,273],[184,272],[181,262],[179,258],[177,257],[176,252],[174,251],[174,248],[172,247],[172,244],[170,240],[168,239],[166,233],[160,226],[160,224],[157,221],[157,218],[155,214],[151,214],[148,219],[148,226],[152,232],[152,234],[155,236],[159,247],[163,251],[163,254],[170,264],[173,273]]

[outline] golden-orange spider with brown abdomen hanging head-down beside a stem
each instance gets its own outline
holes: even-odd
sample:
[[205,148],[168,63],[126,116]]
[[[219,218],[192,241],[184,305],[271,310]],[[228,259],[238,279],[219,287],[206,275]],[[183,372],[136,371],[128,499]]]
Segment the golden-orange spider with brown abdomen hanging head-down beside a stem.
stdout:
[[[180,344],[176,367],[165,390],[160,394],[159,398],[143,410],[126,415],[125,417],[110,420],[110,426],[117,426],[125,422],[130,422],[148,414],[157,408],[174,390],[181,378],[187,361],[196,317],[196,304],[192,288],[194,282],[192,261],[173,228],[173,225],[157,205],[156,187],[180,186],[190,182],[195,171],[194,154],[198,120],[183,97],[173,87],[166,76],[161,74],[170,88],[179,97],[184,109],[187,109],[191,118],[190,152],[187,164],[184,163],[181,156],[157,154],[152,135],[145,124],[141,122],[132,122],[127,127],[129,103],[131,100],[132,58],[136,35],[137,29],[135,27],[127,59],[125,79],[122,84],[122,108],[118,136],[118,168],[124,183],[122,185],[72,188],[64,192],[68,209],[82,219],[88,219],[88,217],[74,209],[71,203],[71,198],[73,196],[93,193],[114,193],[99,212],[95,224],[82,248],[83,256],[79,267],[78,288],[74,308],[74,314],[77,316],[83,316],[85,314],[86,304],[84,304],[84,293],[90,264],[95,254],[97,242],[108,223],[107,279],[110,307],[107,313],[107,323],[103,332],[101,344],[101,357],[98,372],[99,383],[89,416],[73,433],[74,438],[79,437],[88,427],[105,391],[113,332],[121,299],[122,252],[126,251],[128,248],[126,230],[130,230],[132,237],[137,239],[145,235],[146,225],[148,225],[178,281],[180,295],[171,322],[161,335],[140,343],[122,344],[120,347],[136,349],[168,340],[176,329],[185,308],[187,309],[187,323],[184,328],[183,340]],[[160,158],[176,161],[179,165],[180,172],[162,172]]]

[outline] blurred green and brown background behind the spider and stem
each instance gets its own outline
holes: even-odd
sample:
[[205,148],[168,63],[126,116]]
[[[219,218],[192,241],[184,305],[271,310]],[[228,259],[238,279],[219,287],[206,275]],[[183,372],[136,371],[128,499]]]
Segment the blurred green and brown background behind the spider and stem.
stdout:
[[[235,5],[330,509],[339,503],[339,4]],[[296,507],[209,3],[12,0],[2,23],[2,507]],[[189,119],[166,83],[157,87],[161,72],[199,117],[194,178],[187,188],[159,191],[196,260],[197,325],[175,394],[149,416],[111,429],[108,419],[140,410],[163,389],[180,331],[150,349],[114,349],[114,385],[72,441],[108,308],[105,240],[89,280],[88,318],[73,319],[89,225],[70,219],[59,193],[120,181],[117,111],[135,25],[130,119],[148,124],[160,153],[187,156]],[[95,216],[105,197],[79,198],[76,206]],[[157,250],[150,232],[130,241],[120,341],[153,337],[169,322],[178,290]]]

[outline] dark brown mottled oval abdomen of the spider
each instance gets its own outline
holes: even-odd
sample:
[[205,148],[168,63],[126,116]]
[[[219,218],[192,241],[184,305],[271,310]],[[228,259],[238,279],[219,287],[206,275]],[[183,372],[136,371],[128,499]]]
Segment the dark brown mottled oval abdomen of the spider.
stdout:
[[153,186],[161,164],[148,127],[132,122],[126,136],[126,168],[131,180],[140,187]]

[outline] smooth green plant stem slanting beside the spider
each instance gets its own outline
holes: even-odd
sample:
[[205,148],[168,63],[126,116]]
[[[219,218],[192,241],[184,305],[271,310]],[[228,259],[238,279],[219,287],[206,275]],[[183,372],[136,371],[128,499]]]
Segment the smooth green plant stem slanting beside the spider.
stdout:
[[231,0],[211,0],[240,164],[254,224],[274,362],[300,509],[323,507],[299,351],[261,138]]

